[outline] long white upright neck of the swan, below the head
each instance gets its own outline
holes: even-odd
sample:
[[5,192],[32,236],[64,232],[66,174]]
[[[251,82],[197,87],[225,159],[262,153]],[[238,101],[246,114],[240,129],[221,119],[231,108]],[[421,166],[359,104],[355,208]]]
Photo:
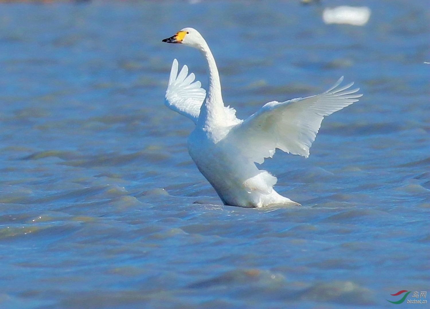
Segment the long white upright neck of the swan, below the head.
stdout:
[[200,46],[200,51],[205,56],[209,67],[209,91],[205,102],[200,109],[199,122],[204,125],[222,121],[224,116],[224,102],[221,95],[221,82],[214,56],[206,41]]

